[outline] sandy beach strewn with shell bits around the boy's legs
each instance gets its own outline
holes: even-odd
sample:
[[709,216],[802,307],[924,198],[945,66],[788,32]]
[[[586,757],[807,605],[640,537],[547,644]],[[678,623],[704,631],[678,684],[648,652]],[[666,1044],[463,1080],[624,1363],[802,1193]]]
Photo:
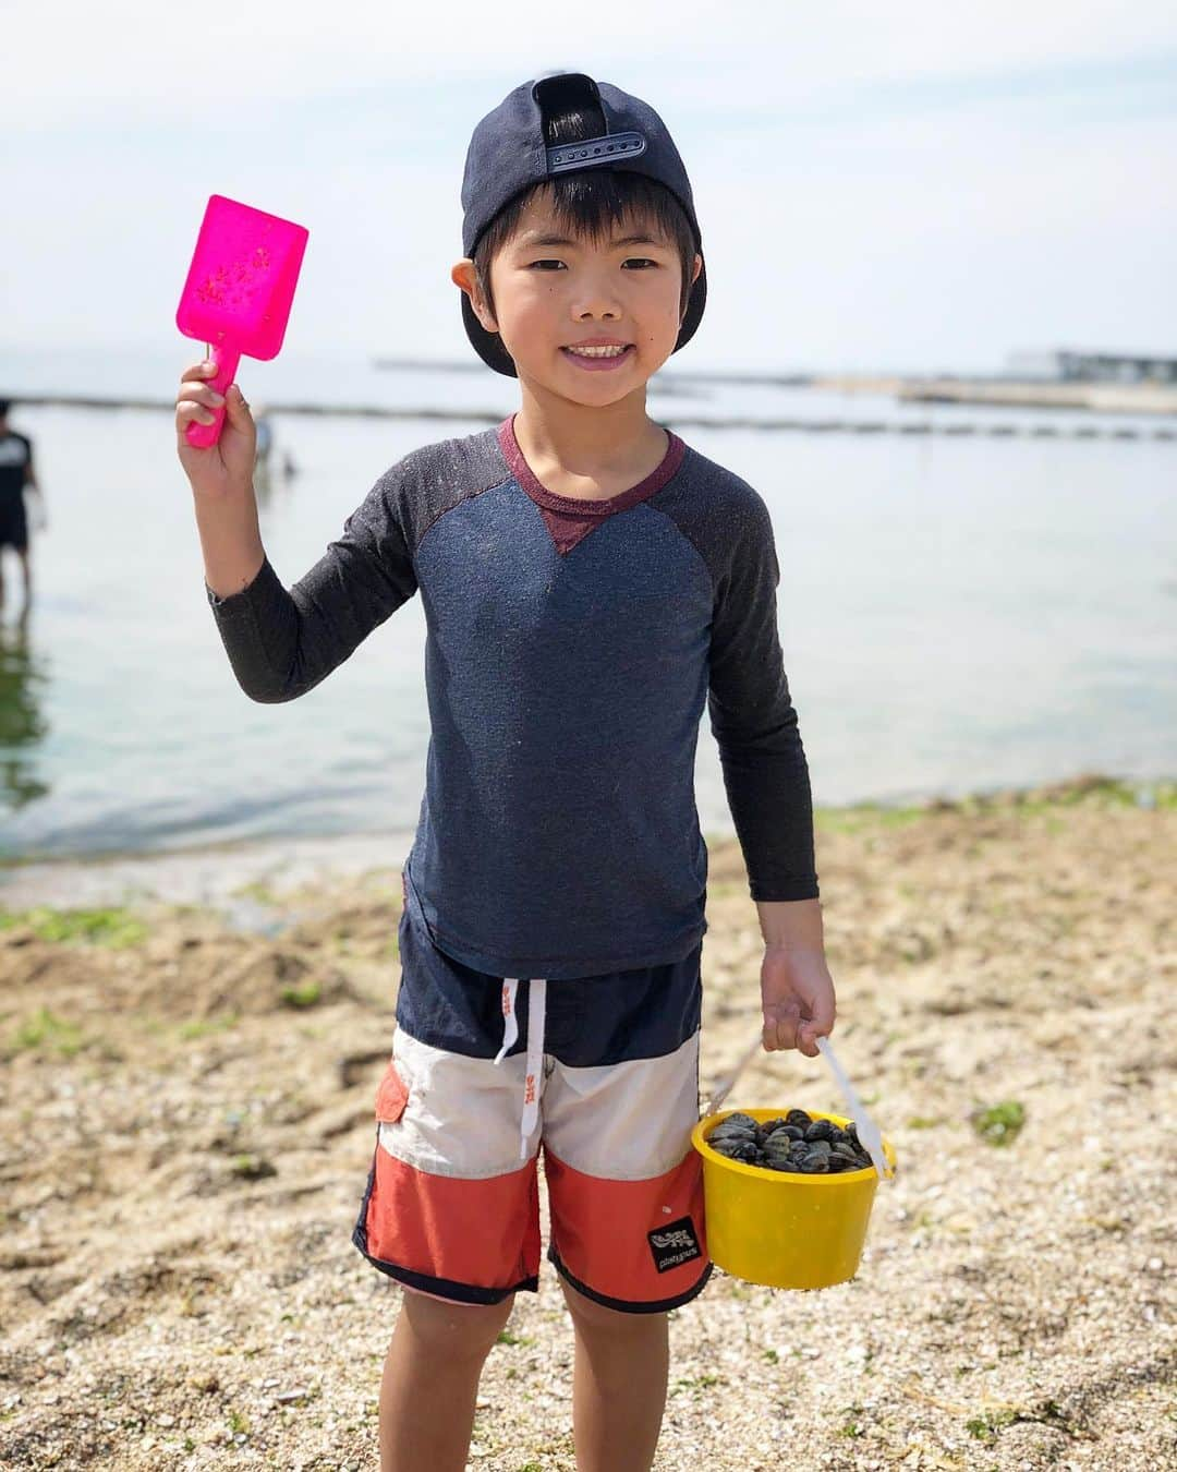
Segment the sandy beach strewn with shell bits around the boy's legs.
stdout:
[[[47,868],[0,889],[0,1465],[369,1472],[400,1289],[350,1232],[399,870],[309,864],[230,914],[99,908]],[[716,1270],[672,1314],[656,1466],[1176,1465],[1177,789],[822,811],[818,868],[834,1038],[899,1173],[852,1282]],[[708,916],[705,1086],[758,1025],[734,842]],[[797,1054],[730,1100],[839,1103]],[[472,1468],[571,1472],[571,1350],[544,1262],[487,1362]]]

